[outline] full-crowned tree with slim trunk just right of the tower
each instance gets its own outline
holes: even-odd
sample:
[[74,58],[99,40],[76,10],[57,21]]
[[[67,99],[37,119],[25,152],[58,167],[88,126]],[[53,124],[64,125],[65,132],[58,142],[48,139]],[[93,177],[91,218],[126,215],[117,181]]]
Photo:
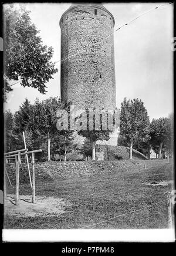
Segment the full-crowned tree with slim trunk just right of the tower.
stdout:
[[121,103],[120,112],[120,136],[130,146],[130,159],[132,159],[133,144],[148,134],[150,124],[147,110],[141,100],[126,98]]

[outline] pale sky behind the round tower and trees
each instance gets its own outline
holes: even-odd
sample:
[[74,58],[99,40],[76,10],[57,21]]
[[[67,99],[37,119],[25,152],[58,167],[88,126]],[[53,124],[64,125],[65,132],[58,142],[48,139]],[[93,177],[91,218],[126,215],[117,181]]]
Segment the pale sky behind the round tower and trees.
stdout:
[[[168,4],[168,3],[165,3]],[[114,31],[140,14],[153,9],[136,19],[130,25],[114,32],[114,59],[116,70],[116,105],[120,108],[124,97],[141,99],[147,109],[150,120],[167,117],[174,112],[173,106],[173,6],[164,3],[103,3],[115,19]],[[43,44],[54,49],[53,62],[60,60],[59,20],[70,4],[26,4],[31,11],[31,20],[40,30]],[[12,86],[8,93],[4,110],[14,113],[28,98],[33,103],[36,97],[44,100],[60,97],[59,70],[49,80],[48,92],[42,95],[32,87],[22,87],[20,83]],[[13,83],[13,81],[11,82]]]

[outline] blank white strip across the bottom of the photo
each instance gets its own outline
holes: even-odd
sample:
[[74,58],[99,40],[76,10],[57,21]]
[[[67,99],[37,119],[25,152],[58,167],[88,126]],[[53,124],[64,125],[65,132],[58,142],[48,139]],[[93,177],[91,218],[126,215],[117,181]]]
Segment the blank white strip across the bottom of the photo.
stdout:
[[6,242],[174,242],[174,229],[2,230]]

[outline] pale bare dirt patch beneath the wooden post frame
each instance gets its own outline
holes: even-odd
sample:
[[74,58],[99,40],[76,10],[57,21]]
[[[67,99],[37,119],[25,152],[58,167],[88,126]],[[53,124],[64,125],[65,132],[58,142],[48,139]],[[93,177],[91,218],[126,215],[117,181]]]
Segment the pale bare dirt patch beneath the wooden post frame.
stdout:
[[16,217],[36,217],[39,215],[60,215],[65,212],[68,204],[63,198],[36,196],[36,203],[32,203],[32,196],[20,195],[19,204],[15,205],[15,195],[9,194],[5,198],[4,214]]

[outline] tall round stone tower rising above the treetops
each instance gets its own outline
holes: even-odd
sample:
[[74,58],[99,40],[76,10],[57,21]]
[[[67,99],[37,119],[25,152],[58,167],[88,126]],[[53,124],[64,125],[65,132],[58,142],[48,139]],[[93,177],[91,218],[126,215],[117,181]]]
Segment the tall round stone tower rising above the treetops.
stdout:
[[115,109],[113,15],[101,4],[74,4],[59,24],[61,99],[88,109]]

